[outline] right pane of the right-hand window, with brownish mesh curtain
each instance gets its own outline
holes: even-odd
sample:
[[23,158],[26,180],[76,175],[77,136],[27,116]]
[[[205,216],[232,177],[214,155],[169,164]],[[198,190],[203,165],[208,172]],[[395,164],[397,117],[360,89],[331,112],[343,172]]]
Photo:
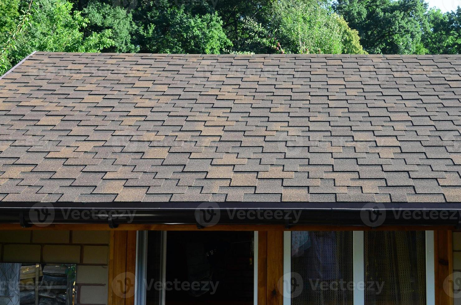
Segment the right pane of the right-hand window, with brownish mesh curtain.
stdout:
[[364,236],[366,305],[426,304],[424,231],[370,231]]

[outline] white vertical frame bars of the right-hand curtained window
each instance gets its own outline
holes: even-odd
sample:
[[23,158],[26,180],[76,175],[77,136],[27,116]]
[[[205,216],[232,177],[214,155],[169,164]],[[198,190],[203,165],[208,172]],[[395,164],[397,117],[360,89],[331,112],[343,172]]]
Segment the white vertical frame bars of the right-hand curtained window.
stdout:
[[[283,304],[291,305],[291,232],[284,231]],[[425,231],[426,305],[435,305],[434,231]],[[364,231],[353,231],[353,281],[365,281]],[[354,289],[353,304],[365,304],[365,291]]]

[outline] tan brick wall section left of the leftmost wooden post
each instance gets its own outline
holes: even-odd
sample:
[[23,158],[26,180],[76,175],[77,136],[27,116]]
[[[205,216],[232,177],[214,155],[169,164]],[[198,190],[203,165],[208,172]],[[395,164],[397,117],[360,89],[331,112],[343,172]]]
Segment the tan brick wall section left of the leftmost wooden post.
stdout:
[[3,231],[0,262],[77,264],[76,305],[107,304],[108,231]]

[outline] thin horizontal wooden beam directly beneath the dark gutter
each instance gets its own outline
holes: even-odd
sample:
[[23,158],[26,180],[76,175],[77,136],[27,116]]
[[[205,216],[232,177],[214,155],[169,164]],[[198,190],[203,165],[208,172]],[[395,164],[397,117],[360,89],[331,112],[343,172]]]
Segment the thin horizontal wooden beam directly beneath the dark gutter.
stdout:
[[453,230],[453,226],[321,226],[292,225],[286,229],[282,224],[247,225],[247,224],[217,224],[212,227],[198,229],[195,224],[121,224],[116,229],[110,229],[106,224],[50,224],[47,227],[21,228],[19,224],[1,224],[0,230],[74,230],[74,231],[426,231]]

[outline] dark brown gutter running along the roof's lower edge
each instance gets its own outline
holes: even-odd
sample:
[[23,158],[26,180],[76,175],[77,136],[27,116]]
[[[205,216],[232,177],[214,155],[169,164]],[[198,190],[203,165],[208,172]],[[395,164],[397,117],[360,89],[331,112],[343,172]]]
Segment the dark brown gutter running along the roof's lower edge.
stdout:
[[0,203],[0,223],[459,226],[461,203],[107,202]]

